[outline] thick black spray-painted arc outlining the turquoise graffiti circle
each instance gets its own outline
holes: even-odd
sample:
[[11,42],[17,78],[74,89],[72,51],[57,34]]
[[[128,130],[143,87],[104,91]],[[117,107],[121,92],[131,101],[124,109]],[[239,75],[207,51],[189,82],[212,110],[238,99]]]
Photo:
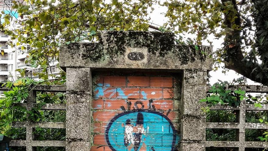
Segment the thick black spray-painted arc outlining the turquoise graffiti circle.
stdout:
[[105,131],[105,138],[106,138],[106,142],[108,144],[108,146],[110,147],[110,149],[112,151],[117,151],[116,149],[114,149],[113,146],[111,146],[111,143],[110,143],[110,140],[109,140],[109,130],[111,128],[111,125],[114,123],[114,121],[116,119],[118,119],[119,117],[122,117],[123,115],[126,115],[126,114],[129,114],[129,113],[135,113],[135,112],[150,112],[150,113],[154,113],[154,114],[157,114],[157,115],[160,115],[162,117],[164,117],[170,124],[171,128],[172,128],[172,131],[173,131],[173,140],[172,140],[172,145],[171,145],[171,151],[175,151],[175,144],[176,144],[176,130],[175,130],[175,127],[174,125],[172,124],[171,120],[166,116],[164,115],[163,113],[160,113],[160,112],[157,112],[157,111],[152,111],[152,110],[132,110],[132,111],[126,111],[126,112],[123,112],[123,113],[120,113],[118,115],[116,115],[113,119],[110,120],[108,126],[107,126],[107,129]]

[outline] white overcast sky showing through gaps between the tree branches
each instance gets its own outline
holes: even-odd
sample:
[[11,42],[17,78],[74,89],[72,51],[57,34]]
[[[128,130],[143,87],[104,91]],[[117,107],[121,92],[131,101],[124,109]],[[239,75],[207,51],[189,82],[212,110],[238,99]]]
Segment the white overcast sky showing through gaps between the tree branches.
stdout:
[[[168,18],[165,17],[164,13],[167,11],[166,7],[162,7],[160,5],[155,5],[154,6],[154,11],[150,14],[151,23],[157,24],[159,26],[162,26],[165,22],[168,21]],[[153,24],[152,24],[153,25]],[[154,25],[156,26],[156,25]],[[190,35],[189,35],[190,36]],[[190,37],[191,38],[191,37]],[[216,51],[218,48],[221,48],[221,43],[223,43],[223,38],[220,38],[219,40],[214,40],[213,37],[210,39],[213,41],[213,51]],[[210,45],[208,42],[204,41],[203,45]],[[226,74],[222,73],[222,69],[219,69],[217,71],[210,71],[210,84],[214,84],[219,80],[221,81],[232,81],[234,78],[237,79],[239,77],[242,77],[241,74],[237,74],[233,70],[229,70]],[[254,81],[251,81],[247,79],[248,84],[254,84],[254,85],[259,85],[259,83],[256,83]]]

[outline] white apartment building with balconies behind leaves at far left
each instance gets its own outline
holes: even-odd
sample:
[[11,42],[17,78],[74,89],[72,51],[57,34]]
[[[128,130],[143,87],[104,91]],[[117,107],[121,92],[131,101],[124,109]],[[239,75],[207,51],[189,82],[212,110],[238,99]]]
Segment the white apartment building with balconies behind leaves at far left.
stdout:
[[[12,5],[12,0],[3,0],[0,2],[0,11],[3,10],[5,13],[9,13]],[[12,15],[17,17],[18,14],[15,14],[14,12],[12,11]],[[4,15],[2,15],[1,22],[3,22],[3,16]],[[12,28],[19,26],[20,25],[13,24]],[[21,77],[16,69],[25,69],[25,77],[39,80],[39,77],[34,76],[34,73],[42,72],[43,68],[33,68],[29,63],[25,63],[26,58],[29,56],[28,51],[32,49],[30,45],[20,45],[16,48],[11,48],[11,46],[7,44],[8,41],[10,41],[10,37],[0,31],[0,50],[3,54],[0,54],[0,82],[16,81]],[[16,43],[16,41],[13,41],[13,43]],[[24,50],[21,49],[22,46],[24,46]],[[59,74],[60,71],[56,67],[57,64],[58,61],[55,58],[51,60],[48,67],[48,74]],[[52,79],[53,77],[50,76],[49,78]]]

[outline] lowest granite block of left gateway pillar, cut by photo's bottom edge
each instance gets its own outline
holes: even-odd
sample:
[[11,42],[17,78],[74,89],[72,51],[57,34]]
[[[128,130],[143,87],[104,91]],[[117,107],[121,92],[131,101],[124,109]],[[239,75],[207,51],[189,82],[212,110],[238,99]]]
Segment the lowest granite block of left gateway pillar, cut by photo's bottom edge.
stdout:
[[90,150],[90,142],[88,141],[68,141],[66,151]]

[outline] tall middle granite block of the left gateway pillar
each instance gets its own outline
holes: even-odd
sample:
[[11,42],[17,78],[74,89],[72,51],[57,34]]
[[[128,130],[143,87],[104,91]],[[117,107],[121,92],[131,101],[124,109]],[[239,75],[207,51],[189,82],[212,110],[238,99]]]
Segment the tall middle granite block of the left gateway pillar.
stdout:
[[66,95],[66,140],[90,141],[91,95]]

